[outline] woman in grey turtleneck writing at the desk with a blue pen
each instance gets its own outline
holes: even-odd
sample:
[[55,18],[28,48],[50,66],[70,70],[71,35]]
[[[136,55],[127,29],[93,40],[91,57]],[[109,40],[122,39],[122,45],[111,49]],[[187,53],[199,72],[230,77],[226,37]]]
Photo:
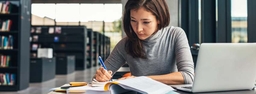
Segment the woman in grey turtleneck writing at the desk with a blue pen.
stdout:
[[167,85],[192,84],[194,63],[186,34],[179,27],[167,27],[169,22],[165,0],[128,0],[123,10],[127,36],[105,61],[109,71],[99,68],[95,79],[109,81],[127,62],[132,76],[126,78],[147,76]]

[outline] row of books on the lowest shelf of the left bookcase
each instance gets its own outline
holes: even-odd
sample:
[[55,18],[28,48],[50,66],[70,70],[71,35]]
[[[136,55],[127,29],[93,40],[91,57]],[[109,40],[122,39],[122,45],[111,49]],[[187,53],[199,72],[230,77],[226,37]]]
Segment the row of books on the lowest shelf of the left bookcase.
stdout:
[[16,74],[0,73],[0,85],[15,85]]

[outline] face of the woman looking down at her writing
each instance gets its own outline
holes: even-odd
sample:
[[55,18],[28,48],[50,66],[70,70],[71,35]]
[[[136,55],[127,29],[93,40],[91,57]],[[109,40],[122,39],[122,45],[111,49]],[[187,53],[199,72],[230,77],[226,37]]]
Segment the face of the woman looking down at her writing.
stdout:
[[159,21],[151,12],[146,11],[144,7],[138,10],[131,10],[130,16],[131,25],[139,39],[144,40],[156,32]]

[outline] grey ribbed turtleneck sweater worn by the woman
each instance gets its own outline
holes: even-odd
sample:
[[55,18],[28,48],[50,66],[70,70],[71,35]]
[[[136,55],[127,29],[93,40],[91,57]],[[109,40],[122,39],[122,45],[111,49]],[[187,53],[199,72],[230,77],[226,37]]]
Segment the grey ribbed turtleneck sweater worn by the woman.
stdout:
[[184,77],[185,84],[193,83],[194,63],[183,29],[165,27],[143,41],[147,59],[133,58],[127,54],[125,39],[122,39],[105,61],[106,68],[114,74],[127,62],[130,72],[134,76],[180,72]]

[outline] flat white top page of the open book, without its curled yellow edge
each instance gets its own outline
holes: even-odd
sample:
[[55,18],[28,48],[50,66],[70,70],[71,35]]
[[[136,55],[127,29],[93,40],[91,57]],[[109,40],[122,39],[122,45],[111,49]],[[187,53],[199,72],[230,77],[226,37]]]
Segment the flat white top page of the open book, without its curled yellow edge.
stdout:
[[146,76],[129,78],[115,82],[118,82],[118,85],[125,89],[135,90],[143,94],[164,94],[175,90],[166,84],[155,81]]

